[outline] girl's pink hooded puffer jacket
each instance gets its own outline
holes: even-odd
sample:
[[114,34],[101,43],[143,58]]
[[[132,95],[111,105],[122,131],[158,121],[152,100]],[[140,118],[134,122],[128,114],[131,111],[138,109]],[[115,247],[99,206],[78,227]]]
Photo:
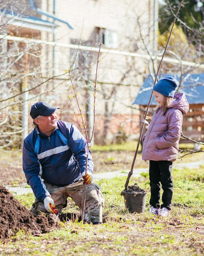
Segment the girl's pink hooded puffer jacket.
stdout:
[[182,132],[183,115],[189,111],[189,103],[183,93],[174,100],[165,115],[160,109],[154,113],[143,139],[143,160],[175,161]]

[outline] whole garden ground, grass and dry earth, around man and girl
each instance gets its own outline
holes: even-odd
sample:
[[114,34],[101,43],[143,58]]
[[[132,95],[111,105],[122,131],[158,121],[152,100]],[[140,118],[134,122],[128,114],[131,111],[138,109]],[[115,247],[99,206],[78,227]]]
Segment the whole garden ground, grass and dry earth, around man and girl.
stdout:
[[[13,197],[6,191],[4,186],[21,186],[26,182],[22,172],[21,157],[16,153],[7,153],[4,157],[1,155],[0,180],[3,187],[1,186],[0,209],[6,215],[0,214],[2,217],[0,229],[2,225],[4,227],[7,225],[7,231],[3,236],[9,238],[5,242],[2,240],[0,244],[1,255],[204,255],[203,153],[191,155],[182,162],[177,160],[173,164],[176,167],[176,164],[186,165],[186,162],[187,168],[182,167],[173,171],[175,179],[173,208],[171,216],[166,219],[150,216],[147,211],[142,214],[128,213],[120,195],[121,190],[124,189],[127,173],[107,180],[107,172],[121,170],[123,173],[124,170],[127,172],[130,170],[134,151],[98,151],[93,152],[92,155],[95,159],[95,174],[100,173],[102,180],[99,181],[99,185],[106,199],[103,224],[94,226],[75,222],[78,209],[70,200],[68,209],[73,210],[74,221],[61,222],[60,227],[56,216],[51,219],[46,216],[35,219],[30,215],[29,208],[34,200],[32,193],[28,194],[29,196]],[[192,166],[192,162],[197,161],[201,161],[201,165]],[[136,159],[134,168],[148,169],[140,155]],[[148,210],[148,173],[142,173],[140,177],[131,177],[130,183],[134,182],[138,182],[142,188],[148,190]],[[2,207],[3,205],[5,208]],[[23,232],[12,234],[15,221],[18,223],[16,231],[23,229]]]

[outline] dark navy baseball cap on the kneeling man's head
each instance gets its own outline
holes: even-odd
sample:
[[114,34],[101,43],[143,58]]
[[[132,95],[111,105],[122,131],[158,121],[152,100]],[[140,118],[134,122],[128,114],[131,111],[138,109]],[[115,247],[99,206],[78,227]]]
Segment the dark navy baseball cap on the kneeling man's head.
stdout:
[[38,101],[33,106],[31,106],[30,115],[33,119],[35,119],[38,116],[48,117],[52,115],[56,109],[59,108],[53,107],[45,101]]

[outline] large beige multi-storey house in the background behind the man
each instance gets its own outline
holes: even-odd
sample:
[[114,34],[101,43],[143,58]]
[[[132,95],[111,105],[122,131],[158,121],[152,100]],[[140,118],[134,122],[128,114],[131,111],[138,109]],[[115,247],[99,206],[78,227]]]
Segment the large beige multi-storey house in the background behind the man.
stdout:
[[78,126],[67,97],[73,95],[72,84],[64,73],[72,70],[89,133],[97,116],[96,143],[138,131],[139,112],[132,109],[132,101],[151,68],[143,42],[149,42],[149,53],[155,51],[151,42],[157,35],[157,7],[158,0],[1,1],[2,109],[17,106],[26,133],[33,129],[29,109],[37,100],[59,105],[59,118]]

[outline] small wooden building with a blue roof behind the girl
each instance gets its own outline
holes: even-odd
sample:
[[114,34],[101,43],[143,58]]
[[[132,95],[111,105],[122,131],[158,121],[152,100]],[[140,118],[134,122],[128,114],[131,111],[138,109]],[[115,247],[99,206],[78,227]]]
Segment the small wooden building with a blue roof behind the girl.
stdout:
[[[163,74],[160,76],[173,76],[180,81],[177,92],[183,92],[189,102],[189,112],[184,115],[182,132],[185,137],[190,137],[195,141],[204,142],[204,74],[185,74],[182,78],[178,75]],[[159,80],[159,79],[158,79]],[[136,96],[133,104],[138,104],[140,108],[140,122],[143,121],[147,105],[150,100],[154,79],[148,76]],[[156,106],[154,96],[151,99],[147,121],[150,121],[153,115],[153,108]],[[149,120],[148,120],[149,119]],[[147,127],[144,127],[143,133]],[[191,142],[189,140],[180,139],[181,143]]]

